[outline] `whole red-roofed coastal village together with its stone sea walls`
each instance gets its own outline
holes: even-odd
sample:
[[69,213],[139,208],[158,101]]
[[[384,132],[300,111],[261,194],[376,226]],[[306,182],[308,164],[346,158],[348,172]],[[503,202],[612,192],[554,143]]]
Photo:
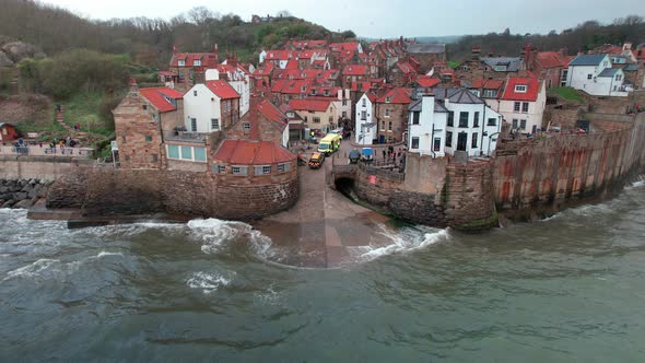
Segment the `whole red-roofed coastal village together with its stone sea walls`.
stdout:
[[[206,52],[176,44],[157,74],[153,87],[132,79],[112,110],[112,165],[57,179],[48,209],[296,224],[374,210],[481,231],[603,194],[645,161],[634,149],[645,43],[526,44],[503,55],[482,44],[461,62],[445,44],[403,37],[290,39],[251,62],[218,44]],[[10,122],[0,136],[3,153],[27,153]],[[60,150],[73,159],[73,148]],[[326,190],[349,199],[333,204]],[[31,206],[4,197],[0,206]],[[338,214],[354,202],[368,209]],[[307,206],[319,207],[316,218]],[[341,230],[326,224],[321,238],[355,238]]]

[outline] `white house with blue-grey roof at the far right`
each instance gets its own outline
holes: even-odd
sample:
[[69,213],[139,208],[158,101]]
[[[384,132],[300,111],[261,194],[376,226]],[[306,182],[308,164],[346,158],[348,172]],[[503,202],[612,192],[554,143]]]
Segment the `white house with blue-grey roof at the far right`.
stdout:
[[582,55],[568,63],[566,85],[594,96],[626,96],[624,73],[609,55]]

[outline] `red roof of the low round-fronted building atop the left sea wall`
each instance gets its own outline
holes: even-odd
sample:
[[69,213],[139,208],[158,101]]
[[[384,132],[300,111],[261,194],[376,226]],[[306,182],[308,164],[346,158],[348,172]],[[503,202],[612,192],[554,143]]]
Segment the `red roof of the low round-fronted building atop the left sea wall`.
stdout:
[[295,155],[271,141],[224,140],[213,159],[233,165],[266,165],[295,160]]

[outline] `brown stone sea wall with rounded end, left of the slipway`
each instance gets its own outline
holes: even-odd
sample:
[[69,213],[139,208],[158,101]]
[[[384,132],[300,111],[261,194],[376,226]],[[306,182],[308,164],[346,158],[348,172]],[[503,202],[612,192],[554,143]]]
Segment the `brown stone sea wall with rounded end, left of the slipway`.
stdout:
[[295,173],[261,180],[265,184],[233,185],[210,173],[85,169],[57,179],[47,206],[80,208],[91,218],[167,213],[253,220],[286,210],[297,201]]

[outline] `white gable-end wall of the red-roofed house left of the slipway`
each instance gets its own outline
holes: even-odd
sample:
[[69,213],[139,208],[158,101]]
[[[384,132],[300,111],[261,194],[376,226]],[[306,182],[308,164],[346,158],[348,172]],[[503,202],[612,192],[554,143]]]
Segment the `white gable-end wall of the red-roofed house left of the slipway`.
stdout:
[[[195,93],[197,92],[197,95]],[[204,84],[198,83],[184,95],[184,125],[186,130],[195,131],[191,128],[191,119],[197,120],[197,132],[220,131],[211,129],[211,119],[216,118],[222,125],[222,112],[220,109],[220,97],[218,97]]]

